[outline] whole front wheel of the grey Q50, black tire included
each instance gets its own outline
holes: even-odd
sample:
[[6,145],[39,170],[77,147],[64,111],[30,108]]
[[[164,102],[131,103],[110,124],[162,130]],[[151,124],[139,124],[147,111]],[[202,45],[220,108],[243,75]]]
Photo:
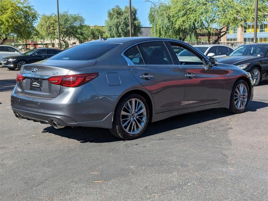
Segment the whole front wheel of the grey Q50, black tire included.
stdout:
[[233,86],[230,98],[229,111],[232,113],[242,113],[249,103],[249,86],[244,80],[238,80]]

